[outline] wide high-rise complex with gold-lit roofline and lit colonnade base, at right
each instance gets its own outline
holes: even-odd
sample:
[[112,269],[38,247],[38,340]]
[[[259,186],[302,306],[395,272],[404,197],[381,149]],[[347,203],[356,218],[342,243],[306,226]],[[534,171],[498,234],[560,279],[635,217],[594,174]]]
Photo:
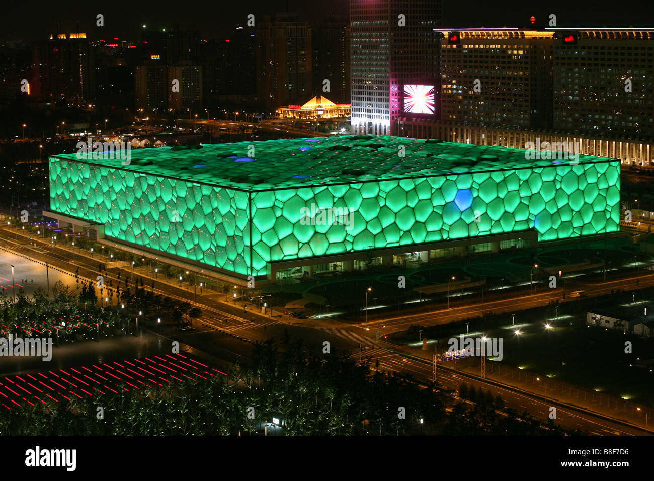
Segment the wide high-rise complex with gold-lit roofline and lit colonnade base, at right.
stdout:
[[400,135],[574,143],[581,154],[654,164],[654,28],[439,32],[441,115],[409,119]]

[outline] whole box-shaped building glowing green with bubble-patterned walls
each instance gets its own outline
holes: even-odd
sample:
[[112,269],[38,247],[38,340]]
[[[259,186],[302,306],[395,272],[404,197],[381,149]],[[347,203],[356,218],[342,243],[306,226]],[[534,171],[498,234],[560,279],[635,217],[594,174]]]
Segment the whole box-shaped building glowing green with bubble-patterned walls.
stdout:
[[128,165],[50,158],[52,217],[228,279],[619,230],[620,163],[610,158],[363,135],[130,154]]

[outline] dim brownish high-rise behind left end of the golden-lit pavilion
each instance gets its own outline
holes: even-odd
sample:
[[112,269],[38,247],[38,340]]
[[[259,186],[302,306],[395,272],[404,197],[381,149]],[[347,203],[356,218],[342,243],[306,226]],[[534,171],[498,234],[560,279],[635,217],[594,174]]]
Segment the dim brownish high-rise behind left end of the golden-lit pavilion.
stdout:
[[313,86],[311,27],[296,14],[264,16],[256,39],[256,94],[268,109],[302,103]]

